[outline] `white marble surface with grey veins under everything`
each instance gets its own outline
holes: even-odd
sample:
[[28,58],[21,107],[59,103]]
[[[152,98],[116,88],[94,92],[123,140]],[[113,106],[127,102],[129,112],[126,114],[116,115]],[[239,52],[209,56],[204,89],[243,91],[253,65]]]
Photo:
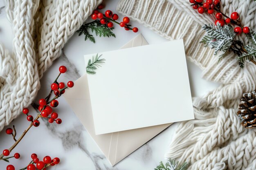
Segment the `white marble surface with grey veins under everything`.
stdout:
[[[107,4],[105,9],[115,11],[117,0],[106,0],[105,2]],[[1,9],[3,6],[4,3],[0,0],[0,42],[11,51],[11,26],[7,21],[5,8]],[[121,15],[119,17],[121,18]],[[149,44],[168,41],[135,21],[132,21],[131,24],[139,28],[139,32],[144,35]],[[65,45],[61,57],[45,72],[41,79],[41,88],[36,101],[49,93],[50,84],[57,76],[59,66],[65,65],[68,68],[67,73],[60,77],[61,81],[75,81],[85,73],[83,55],[119,49],[137,35],[131,31],[125,31],[117,25],[115,25],[114,32],[116,38],[96,37],[96,44],[90,41],[85,42],[83,36],[79,37],[75,33]],[[206,82],[202,79],[200,76],[201,71],[197,66],[190,62],[187,62],[187,64],[192,96],[203,95],[218,86],[218,84]],[[171,125],[123,161],[117,163],[116,166],[112,167],[67,105],[65,99],[61,97],[58,101],[59,106],[55,110],[63,120],[63,123],[60,125],[49,124],[46,120],[40,120],[39,127],[33,127],[29,130],[12,152],[19,152],[21,155],[20,159],[10,159],[11,164],[15,165],[17,170],[25,167],[31,161],[31,153],[37,153],[40,159],[45,155],[60,157],[61,163],[58,166],[49,168],[52,170],[153,170],[159,161],[164,160],[164,154],[177,126],[177,124]],[[31,110],[30,114],[36,115],[36,110],[32,107],[29,109]],[[16,126],[17,136],[20,136],[29,125],[29,122],[26,120],[26,116],[20,115],[7,127],[12,125]],[[4,131],[0,132],[0,150],[9,148],[13,144],[12,137],[6,135]],[[0,169],[4,170],[7,165],[7,162],[0,161]]]

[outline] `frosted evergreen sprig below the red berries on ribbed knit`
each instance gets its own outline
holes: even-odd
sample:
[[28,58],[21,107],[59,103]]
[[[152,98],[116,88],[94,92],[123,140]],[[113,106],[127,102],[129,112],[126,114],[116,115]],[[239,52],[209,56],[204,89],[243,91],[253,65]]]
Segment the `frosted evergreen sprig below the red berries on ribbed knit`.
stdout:
[[240,67],[244,67],[245,60],[256,64],[254,61],[256,58],[256,33],[253,29],[246,34],[252,45],[245,46],[242,41],[234,40],[236,33],[231,25],[221,26],[217,23],[217,26],[204,25],[202,28],[207,32],[207,35],[202,38],[200,43],[205,44],[205,47],[209,46],[211,49],[215,49],[214,55],[221,52],[219,60],[225,57],[229,51],[233,51],[238,55],[236,59]]

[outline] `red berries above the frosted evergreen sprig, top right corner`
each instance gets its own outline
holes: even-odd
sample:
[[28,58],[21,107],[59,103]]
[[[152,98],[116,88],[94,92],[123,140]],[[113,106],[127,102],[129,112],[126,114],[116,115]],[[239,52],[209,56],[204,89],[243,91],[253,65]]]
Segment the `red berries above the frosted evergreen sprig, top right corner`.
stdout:
[[[229,23],[233,23],[236,24],[238,26],[236,26],[234,28],[234,31],[236,34],[240,34],[242,32],[244,33],[249,33],[250,29],[248,26],[243,27],[243,25],[239,24],[237,22],[238,18],[239,18],[239,14],[237,12],[233,12],[231,13],[230,18],[221,13],[220,12],[220,0],[206,0],[206,2],[202,3],[203,0],[189,0],[190,3],[192,3],[193,9],[197,9],[198,13],[204,13],[207,11],[207,13],[209,14],[213,14],[214,11],[217,11],[215,17],[216,17],[216,21],[215,21],[215,25],[217,25],[217,23],[219,23],[221,26],[224,26],[225,23],[229,24]],[[200,7],[199,7],[200,6]],[[223,17],[225,17],[226,19],[224,20]]]

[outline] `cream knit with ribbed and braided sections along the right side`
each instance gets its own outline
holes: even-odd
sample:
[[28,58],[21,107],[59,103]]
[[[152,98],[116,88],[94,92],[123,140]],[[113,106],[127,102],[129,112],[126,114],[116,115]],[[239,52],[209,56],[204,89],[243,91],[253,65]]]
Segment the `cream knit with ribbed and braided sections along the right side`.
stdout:
[[[245,26],[256,30],[254,0],[221,0],[222,11],[240,13]],[[181,122],[166,157],[190,162],[189,170],[256,170],[256,129],[242,128],[236,116],[242,94],[256,89],[256,66],[241,69],[234,54],[219,64],[213,50],[199,41],[201,27],[214,15],[201,15],[189,0],[120,0],[117,10],[170,40],[184,40],[186,56],[200,66],[203,77],[222,85],[193,99],[195,120]],[[240,37],[248,43],[245,35]],[[182,109],[181,109],[182,110]]]

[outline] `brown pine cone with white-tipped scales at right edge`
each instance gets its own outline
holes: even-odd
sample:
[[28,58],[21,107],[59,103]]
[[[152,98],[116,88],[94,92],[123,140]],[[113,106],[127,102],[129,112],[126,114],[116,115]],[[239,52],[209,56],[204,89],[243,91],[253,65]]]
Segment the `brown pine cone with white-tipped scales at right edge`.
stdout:
[[241,119],[241,125],[247,129],[256,127],[256,93],[244,93],[236,114]]

